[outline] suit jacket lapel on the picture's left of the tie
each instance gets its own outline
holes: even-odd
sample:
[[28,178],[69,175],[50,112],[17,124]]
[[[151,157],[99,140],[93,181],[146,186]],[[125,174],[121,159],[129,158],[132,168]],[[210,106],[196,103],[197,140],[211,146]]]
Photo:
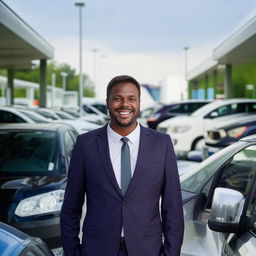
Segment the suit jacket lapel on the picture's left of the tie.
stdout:
[[106,171],[108,178],[112,183],[112,185],[114,186],[117,193],[121,197],[123,197],[121,189],[119,188],[119,185],[117,183],[114,169],[110,160],[108,137],[107,137],[107,126],[104,126],[102,129],[99,130],[97,142],[98,142],[100,157],[104,165],[104,170]]

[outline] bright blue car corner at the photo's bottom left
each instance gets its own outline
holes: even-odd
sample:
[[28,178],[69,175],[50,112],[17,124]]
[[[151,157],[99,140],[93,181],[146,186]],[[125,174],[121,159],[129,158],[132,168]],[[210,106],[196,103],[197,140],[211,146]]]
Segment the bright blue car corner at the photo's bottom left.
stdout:
[[54,256],[40,238],[31,237],[3,222],[0,222],[0,255]]

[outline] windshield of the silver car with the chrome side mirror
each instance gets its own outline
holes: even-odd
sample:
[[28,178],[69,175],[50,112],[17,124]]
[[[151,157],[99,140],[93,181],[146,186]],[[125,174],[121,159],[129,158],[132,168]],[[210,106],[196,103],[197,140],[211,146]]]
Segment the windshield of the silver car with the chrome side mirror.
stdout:
[[213,154],[191,171],[181,176],[181,189],[192,193],[198,193],[208,179],[226,162],[232,155],[248,145],[247,142],[238,142]]

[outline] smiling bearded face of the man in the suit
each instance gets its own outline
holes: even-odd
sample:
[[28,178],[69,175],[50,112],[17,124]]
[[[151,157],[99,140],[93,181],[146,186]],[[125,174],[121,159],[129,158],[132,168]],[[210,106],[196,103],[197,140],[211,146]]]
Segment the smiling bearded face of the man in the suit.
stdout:
[[137,87],[132,83],[115,85],[107,99],[111,125],[131,127],[136,124],[140,112],[140,97]]

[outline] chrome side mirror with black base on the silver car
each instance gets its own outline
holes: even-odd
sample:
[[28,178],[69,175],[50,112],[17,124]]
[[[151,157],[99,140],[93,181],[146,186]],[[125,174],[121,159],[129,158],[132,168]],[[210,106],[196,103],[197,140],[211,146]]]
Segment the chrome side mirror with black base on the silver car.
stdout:
[[216,188],[208,220],[210,229],[217,232],[241,232],[241,218],[245,197],[239,191],[229,188]]

